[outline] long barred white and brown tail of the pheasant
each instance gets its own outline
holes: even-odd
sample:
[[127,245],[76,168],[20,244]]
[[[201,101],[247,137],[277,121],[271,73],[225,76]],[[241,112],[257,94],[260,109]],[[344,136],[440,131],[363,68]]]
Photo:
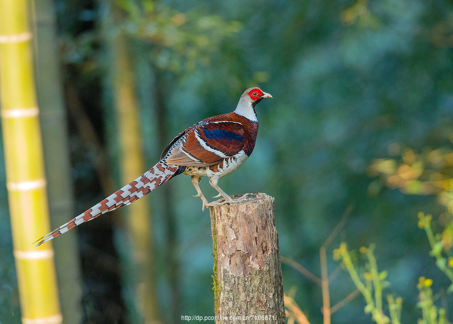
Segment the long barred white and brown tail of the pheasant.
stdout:
[[79,216],[71,219],[66,224],[63,224],[60,227],[56,228],[49,234],[36,240],[35,243],[39,241],[36,246],[50,241],[51,239],[67,232],[77,225],[95,219],[99,215],[133,203],[140,197],[146,195],[146,193],[153,191],[157,188],[157,186],[168,181],[171,177],[179,174],[180,172],[181,170],[179,170],[178,166],[168,165],[161,160],[141,176],[112,193],[112,195],[104,199],[102,202],[93,206]]

